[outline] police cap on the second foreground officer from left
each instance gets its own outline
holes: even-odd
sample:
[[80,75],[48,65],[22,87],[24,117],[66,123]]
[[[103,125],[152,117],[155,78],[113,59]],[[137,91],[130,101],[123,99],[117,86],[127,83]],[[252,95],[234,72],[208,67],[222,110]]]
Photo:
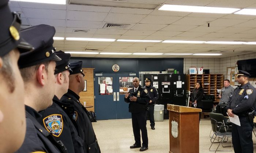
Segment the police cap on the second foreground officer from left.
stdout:
[[50,60],[61,60],[55,54],[56,49],[53,47],[54,34],[55,28],[45,24],[22,29],[20,35],[35,49],[32,52],[20,55],[19,68],[34,66]]

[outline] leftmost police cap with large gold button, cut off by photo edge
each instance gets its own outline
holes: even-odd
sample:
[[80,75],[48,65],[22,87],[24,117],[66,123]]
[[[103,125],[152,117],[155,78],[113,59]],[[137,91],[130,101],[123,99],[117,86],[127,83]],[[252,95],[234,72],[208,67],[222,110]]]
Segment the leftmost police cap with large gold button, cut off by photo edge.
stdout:
[[17,13],[11,12],[9,0],[0,1],[0,56],[8,54],[18,48],[20,53],[33,50],[19,35],[21,20]]

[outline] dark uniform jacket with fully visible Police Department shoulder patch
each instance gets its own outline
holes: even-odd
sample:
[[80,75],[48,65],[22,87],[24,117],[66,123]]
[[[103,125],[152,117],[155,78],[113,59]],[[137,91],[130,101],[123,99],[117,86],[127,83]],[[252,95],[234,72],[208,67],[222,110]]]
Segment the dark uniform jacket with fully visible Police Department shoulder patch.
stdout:
[[78,136],[68,115],[57,103],[59,99],[54,95],[52,106],[39,112],[42,117],[38,119],[38,122],[52,133],[55,140],[63,142],[68,153],[83,153],[83,140]]

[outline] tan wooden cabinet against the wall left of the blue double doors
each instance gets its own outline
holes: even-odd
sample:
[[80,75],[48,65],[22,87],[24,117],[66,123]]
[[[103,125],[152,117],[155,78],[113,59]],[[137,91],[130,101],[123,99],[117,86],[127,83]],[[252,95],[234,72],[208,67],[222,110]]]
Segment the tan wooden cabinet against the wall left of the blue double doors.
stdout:
[[84,80],[86,80],[86,91],[79,93],[79,101],[84,105],[83,102],[86,102],[86,106],[93,106],[86,108],[88,111],[94,111],[94,86],[93,86],[93,70],[94,68],[83,68]]

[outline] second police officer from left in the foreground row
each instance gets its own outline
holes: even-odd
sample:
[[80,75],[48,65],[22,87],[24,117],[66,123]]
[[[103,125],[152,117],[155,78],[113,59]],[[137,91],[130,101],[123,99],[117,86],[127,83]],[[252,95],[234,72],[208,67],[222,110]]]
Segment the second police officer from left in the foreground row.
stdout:
[[38,113],[52,105],[54,97],[55,61],[61,60],[55,54],[53,36],[55,28],[38,25],[23,29],[20,35],[34,46],[35,50],[20,57],[18,64],[25,86],[26,136],[18,153],[67,153],[61,141],[37,122]]

